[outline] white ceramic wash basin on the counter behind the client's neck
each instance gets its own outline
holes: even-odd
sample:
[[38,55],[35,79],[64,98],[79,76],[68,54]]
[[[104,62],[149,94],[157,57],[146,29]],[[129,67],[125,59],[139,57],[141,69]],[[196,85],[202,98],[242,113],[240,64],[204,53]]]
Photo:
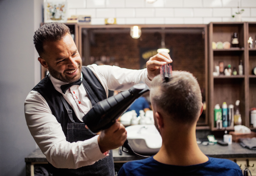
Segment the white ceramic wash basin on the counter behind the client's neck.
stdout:
[[155,154],[162,146],[162,138],[153,124],[132,125],[125,129],[129,144],[136,153]]

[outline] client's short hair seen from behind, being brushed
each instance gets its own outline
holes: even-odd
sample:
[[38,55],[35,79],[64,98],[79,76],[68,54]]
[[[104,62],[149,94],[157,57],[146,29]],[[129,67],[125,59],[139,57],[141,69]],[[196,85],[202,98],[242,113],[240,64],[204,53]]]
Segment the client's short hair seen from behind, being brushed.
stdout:
[[157,75],[151,82],[150,98],[173,121],[184,124],[195,122],[202,106],[198,81],[185,71],[173,71],[168,82]]

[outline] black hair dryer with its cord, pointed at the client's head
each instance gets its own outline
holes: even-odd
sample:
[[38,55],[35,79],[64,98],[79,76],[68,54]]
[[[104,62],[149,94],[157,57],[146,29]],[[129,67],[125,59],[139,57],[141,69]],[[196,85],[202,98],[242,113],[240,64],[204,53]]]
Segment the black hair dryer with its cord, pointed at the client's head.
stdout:
[[[136,84],[129,90],[123,91],[117,95],[100,101],[83,117],[84,124],[87,125],[92,133],[98,133],[101,130],[108,129],[119,118],[131,104],[139,98],[143,93],[148,92],[149,87],[146,84]],[[126,139],[123,147],[137,156]],[[141,156],[148,157],[148,156]]]

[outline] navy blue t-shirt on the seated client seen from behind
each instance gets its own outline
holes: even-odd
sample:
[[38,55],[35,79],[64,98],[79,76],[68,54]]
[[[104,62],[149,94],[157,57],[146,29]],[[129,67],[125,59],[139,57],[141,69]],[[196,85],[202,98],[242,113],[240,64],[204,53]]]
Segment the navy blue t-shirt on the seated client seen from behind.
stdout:
[[240,167],[228,159],[209,157],[209,161],[191,166],[157,162],[151,156],[125,163],[117,176],[243,176]]

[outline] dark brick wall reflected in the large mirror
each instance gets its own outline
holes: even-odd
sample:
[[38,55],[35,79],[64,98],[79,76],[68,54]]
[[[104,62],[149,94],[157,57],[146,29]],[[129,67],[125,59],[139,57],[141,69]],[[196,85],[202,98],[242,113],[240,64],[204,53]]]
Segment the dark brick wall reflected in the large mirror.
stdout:
[[[174,70],[186,70],[198,79],[201,89],[205,89],[204,39],[201,34],[171,34],[165,37],[166,47],[172,49]],[[95,34],[95,45],[90,55],[105,64],[118,65],[128,69],[140,69],[140,49],[159,48],[160,33],[145,33],[139,39],[129,33]]]

